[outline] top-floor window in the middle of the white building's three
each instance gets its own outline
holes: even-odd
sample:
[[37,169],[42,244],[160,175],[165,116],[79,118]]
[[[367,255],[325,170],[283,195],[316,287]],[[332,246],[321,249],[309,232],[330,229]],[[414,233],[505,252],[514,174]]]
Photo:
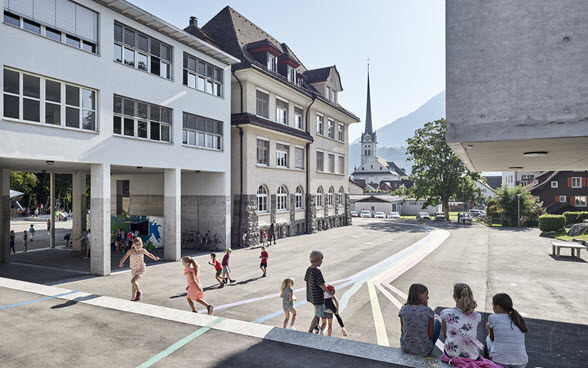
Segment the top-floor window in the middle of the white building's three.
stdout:
[[171,54],[171,46],[114,23],[114,61],[171,79]]

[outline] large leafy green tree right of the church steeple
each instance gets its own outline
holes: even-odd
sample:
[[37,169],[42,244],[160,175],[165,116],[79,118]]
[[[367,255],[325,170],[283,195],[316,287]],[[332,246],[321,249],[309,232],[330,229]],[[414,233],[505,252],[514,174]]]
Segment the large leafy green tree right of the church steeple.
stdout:
[[474,182],[481,178],[470,172],[445,142],[445,119],[428,122],[407,140],[406,152],[412,161],[410,193],[424,198],[423,208],[443,206],[449,219],[449,199],[477,200],[481,191]]

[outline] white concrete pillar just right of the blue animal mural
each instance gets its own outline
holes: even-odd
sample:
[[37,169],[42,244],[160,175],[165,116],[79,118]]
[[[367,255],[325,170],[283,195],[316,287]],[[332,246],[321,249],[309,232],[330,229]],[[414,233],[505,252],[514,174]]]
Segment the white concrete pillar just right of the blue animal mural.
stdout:
[[182,258],[182,170],[163,173],[163,257],[166,261]]

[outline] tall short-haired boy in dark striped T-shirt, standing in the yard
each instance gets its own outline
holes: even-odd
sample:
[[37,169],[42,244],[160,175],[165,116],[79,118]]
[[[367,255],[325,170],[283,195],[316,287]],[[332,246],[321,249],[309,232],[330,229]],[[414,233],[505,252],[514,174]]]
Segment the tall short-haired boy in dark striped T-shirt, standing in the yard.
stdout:
[[319,267],[323,264],[323,253],[313,250],[310,253],[310,267],[306,269],[304,281],[306,281],[306,300],[314,305],[314,318],[310,323],[308,332],[319,332],[318,323],[325,311],[324,292],[333,295],[325,286],[325,279]]

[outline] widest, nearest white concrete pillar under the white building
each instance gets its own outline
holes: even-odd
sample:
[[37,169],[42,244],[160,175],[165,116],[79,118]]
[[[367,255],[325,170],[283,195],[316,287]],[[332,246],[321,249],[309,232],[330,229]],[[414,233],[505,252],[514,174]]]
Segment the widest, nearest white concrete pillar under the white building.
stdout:
[[91,165],[90,272],[110,274],[110,165]]

